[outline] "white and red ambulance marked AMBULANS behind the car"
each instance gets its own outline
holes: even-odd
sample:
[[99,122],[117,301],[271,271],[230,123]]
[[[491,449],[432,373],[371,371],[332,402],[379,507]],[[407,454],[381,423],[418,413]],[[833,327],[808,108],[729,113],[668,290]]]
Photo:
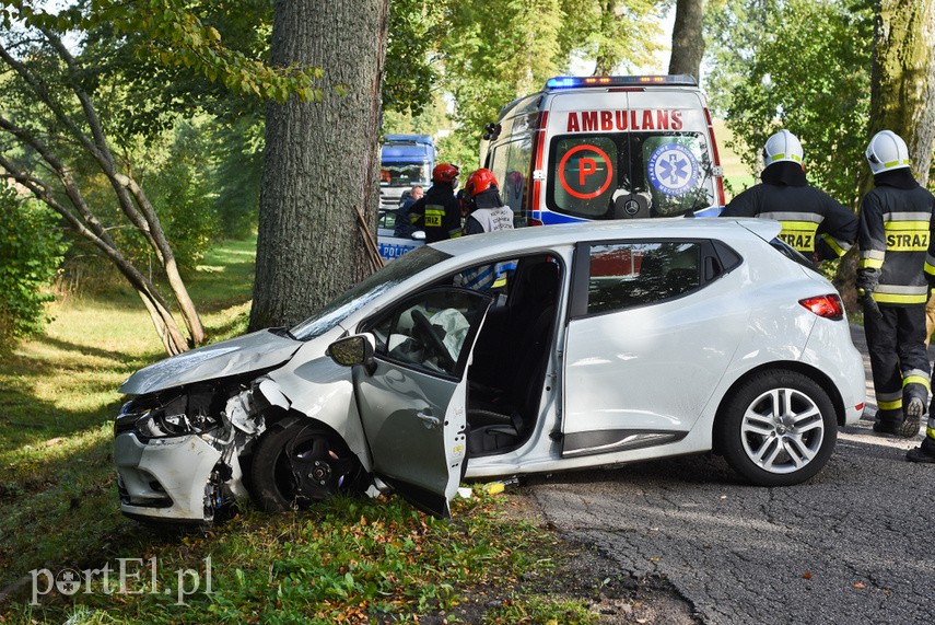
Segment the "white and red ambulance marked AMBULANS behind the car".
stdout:
[[480,162],[516,225],[714,217],[723,171],[690,76],[557,77],[488,124]]

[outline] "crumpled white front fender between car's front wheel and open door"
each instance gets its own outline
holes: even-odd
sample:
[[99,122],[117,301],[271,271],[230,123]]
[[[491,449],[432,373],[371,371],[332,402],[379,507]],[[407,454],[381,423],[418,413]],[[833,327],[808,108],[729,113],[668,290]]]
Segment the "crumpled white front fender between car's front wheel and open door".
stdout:
[[370,472],[373,461],[358,413],[352,372],[351,367],[341,367],[327,356],[304,362],[296,358],[267,374],[276,386],[268,385],[264,395],[269,398],[267,393],[273,396],[279,393],[289,402],[291,412],[335,430],[360,459],[364,470]]

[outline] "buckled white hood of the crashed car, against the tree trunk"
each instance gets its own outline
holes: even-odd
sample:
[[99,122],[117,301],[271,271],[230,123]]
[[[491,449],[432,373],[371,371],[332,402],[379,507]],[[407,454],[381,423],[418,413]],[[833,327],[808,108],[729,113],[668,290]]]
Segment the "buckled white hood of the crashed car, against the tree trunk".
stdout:
[[142,395],[276,367],[292,358],[302,345],[301,340],[261,329],[150,364],[130,375],[120,392]]

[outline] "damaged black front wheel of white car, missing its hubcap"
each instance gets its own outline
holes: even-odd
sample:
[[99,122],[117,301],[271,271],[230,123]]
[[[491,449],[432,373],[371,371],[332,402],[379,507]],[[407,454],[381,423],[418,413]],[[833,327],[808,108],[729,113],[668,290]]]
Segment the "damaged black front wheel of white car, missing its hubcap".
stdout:
[[268,512],[302,509],[337,493],[360,493],[366,483],[344,441],[308,419],[271,425],[254,450],[250,495]]

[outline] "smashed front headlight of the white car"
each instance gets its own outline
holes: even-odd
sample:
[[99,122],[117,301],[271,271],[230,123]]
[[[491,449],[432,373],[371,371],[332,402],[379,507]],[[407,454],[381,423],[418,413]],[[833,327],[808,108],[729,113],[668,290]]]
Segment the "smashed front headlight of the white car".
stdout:
[[114,420],[114,436],[135,431],[143,440],[171,438],[199,435],[221,425],[220,419],[211,415],[186,412],[186,400],[187,396],[183,394],[155,406],[152,402],[148,402],[148,406],[139,405],[138,401],[126,403]]

